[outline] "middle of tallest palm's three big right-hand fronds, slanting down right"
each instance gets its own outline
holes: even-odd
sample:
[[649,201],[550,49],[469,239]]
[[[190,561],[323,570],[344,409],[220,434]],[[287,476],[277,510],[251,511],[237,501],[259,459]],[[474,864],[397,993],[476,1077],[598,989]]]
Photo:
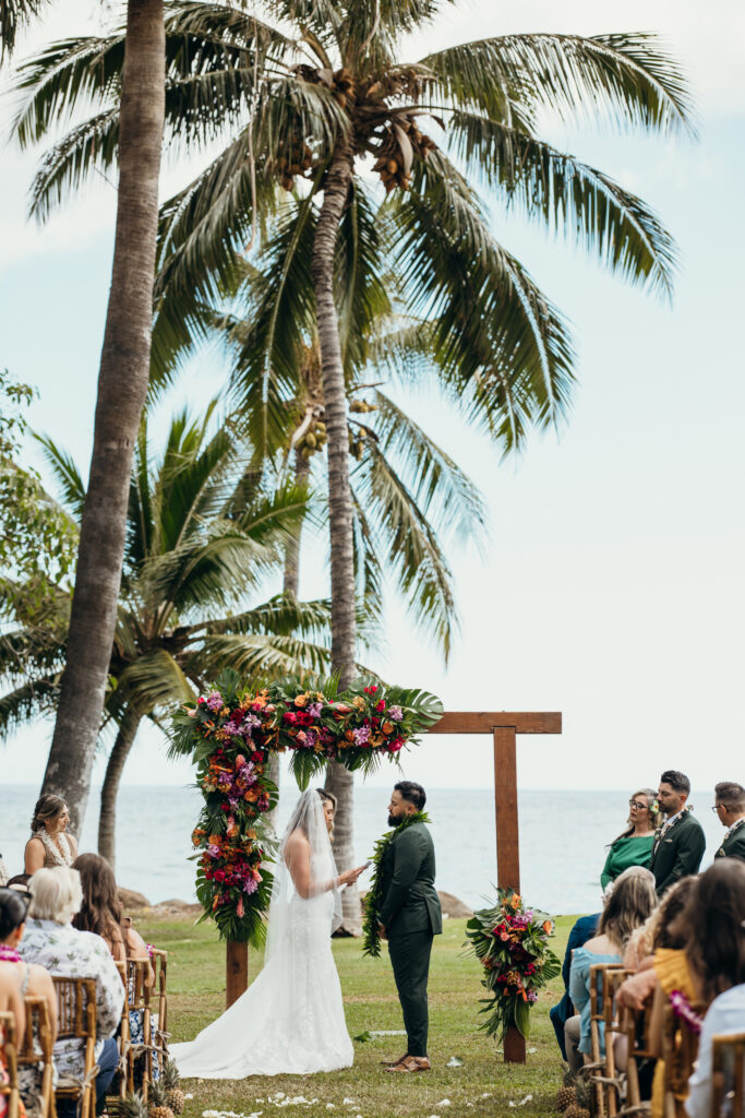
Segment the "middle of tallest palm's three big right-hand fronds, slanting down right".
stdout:
[[624,280],[671,295],[672,240],[636,195],[572,155],[474,114],[453,112],[448,134],[467,169],[529,217],[574,236]]

